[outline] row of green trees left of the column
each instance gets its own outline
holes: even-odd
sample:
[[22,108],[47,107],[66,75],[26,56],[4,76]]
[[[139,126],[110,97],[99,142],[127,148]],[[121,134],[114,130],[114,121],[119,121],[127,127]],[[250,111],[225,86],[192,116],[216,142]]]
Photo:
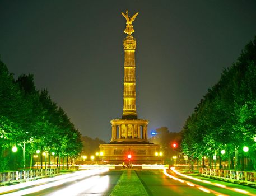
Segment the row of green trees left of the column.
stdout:
[[16,152],[19,156],[13,155],[13,146],[26,146],[27,166],[36,150],[76,157],[82,142],[80,132],[49,92],[36,90],[32,74],[15,80],[0,61],[0,171],[21,167],[22,149]]

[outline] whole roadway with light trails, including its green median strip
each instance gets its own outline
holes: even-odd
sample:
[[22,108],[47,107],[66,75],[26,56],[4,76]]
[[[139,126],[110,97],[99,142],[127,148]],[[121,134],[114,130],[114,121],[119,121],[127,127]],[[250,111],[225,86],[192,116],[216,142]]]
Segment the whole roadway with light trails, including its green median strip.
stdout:
[[256,189],[187,176],[175,169],[95,169],[3,186],[0,195],[256,195]]

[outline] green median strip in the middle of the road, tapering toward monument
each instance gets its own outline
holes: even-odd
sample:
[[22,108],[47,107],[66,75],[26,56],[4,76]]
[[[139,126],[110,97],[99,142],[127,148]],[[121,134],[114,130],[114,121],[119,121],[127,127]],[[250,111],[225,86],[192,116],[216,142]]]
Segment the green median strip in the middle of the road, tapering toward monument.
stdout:
[[115,185],[110,196],[119,195],[140,195],[148,196],[146,189],[139,180],[137,174],[133,170],[124,170],[120,176],[117,185]]

